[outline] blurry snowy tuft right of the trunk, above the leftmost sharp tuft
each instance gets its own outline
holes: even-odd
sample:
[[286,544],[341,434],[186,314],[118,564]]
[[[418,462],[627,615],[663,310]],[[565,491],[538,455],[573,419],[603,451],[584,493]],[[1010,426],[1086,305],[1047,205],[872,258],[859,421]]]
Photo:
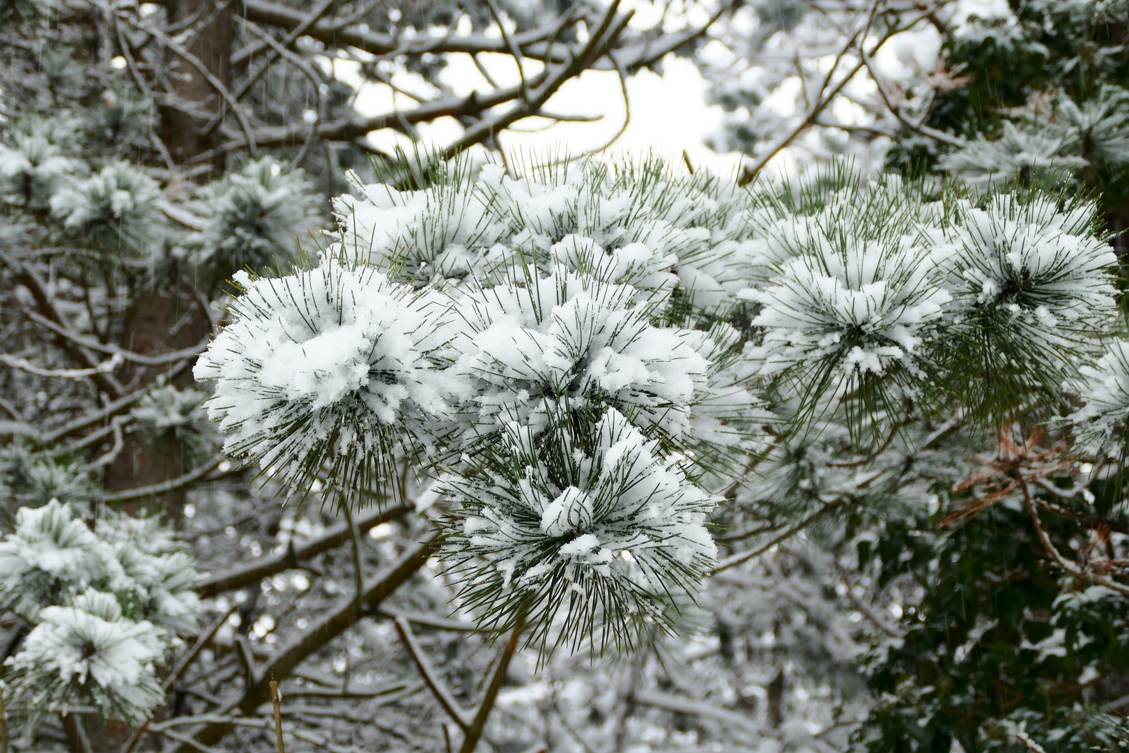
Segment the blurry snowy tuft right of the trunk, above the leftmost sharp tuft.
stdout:
[[320,235],[317,204],[303,170],[270,157],[248,161],[200,189],[193,211],[207,227],[184,240],[187,261],[213,282],[239,270],[288,269],[303,240]]

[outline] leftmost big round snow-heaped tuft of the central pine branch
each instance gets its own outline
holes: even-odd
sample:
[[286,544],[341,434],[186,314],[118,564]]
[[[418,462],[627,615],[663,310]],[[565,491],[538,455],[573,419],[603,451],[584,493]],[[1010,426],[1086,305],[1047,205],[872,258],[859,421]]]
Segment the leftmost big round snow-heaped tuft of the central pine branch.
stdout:
[[225,450],[308,490],[375,488],[395,453],[430,441],[421,427],[448,412],[437,369],[447,303],[332,259],[283,278],[237,275],[233,323],[196,361],[213,380],[209,417]]

